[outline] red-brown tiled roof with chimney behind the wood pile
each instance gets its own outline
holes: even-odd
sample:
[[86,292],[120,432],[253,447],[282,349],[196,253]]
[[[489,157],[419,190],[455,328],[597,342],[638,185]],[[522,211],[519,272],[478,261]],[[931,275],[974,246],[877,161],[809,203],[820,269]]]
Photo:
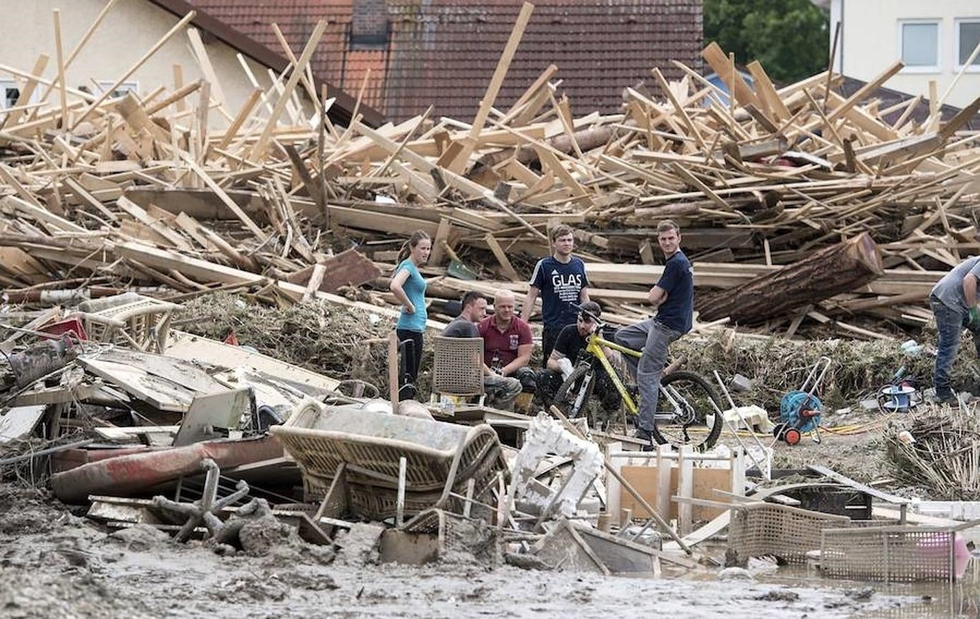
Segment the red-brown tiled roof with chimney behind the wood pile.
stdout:
[[[520,10],[519,0],[389,0],[389,44],[348,45],[352,0],[192,0],[211,15],[279,50],[278,24],[294,51],[319,19],[329,22],[314,71],[356,95],[370,68],[364,103],[392,120],[430,104],[435,115],[471,119]],[[495,107],[508,108],[549,65],[559,68],[572,112],[615,112],[624,86],[650,70],[681,73],[678,60],[701,68],[701,0],[540,0],[517,47]]]

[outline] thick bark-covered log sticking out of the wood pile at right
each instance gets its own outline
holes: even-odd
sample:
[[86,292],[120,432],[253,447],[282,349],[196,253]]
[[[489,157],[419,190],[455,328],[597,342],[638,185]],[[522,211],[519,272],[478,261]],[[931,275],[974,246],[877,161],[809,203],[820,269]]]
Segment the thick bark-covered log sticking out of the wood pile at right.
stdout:
[[865,232],[733,288],[699,295],[695,309],[702,321],[729,316],[734,323],[759,324],[860,288],[882,273],[881,251]]

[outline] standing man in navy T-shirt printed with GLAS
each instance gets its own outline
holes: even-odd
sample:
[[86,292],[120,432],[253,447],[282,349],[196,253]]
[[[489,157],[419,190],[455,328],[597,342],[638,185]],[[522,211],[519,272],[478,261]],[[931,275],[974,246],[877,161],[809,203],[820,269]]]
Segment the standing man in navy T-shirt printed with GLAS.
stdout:
[[520,312],[525,321],[530,320],[534,302],[541,295],[541,353],[544,363],[551,357],[555,340],[563,327],[575,324],[578,310],[571,304],[582,304],[589,300],[589,279],[585,274],[585,262],[571,255],[575,249],[575,235],[566,225],[552,230],[552,249],[554,254],[543,258],[534,265],[531,281],[528,282],[527,300]]

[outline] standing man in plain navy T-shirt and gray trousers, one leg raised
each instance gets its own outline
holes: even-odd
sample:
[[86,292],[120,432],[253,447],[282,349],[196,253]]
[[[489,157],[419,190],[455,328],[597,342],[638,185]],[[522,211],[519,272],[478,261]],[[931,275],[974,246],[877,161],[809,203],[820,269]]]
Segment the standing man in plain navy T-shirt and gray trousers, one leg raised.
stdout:
[[[664,219],[657,226],[657,242],[666,257],[666,264],[660,280],[647,296],[658,309],[657,315],[620,329],[615,335],[616,343],[634,351],[643,349],[635,372],[640,388],[636,437],[644,441],[644,450],[653,449],[654,415],[667,349],[671,342],[691,330],[694,310],[694,273],[691,262],[680,251],[680,228],[673,221]],[[632,363],[633,357],[626,358]]]

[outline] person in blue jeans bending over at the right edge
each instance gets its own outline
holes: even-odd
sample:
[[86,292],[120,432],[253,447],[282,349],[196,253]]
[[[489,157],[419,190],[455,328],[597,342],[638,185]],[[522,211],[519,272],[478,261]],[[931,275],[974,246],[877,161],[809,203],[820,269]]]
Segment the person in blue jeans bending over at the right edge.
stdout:
[[939,346],[933,369],[936,400],[956,404],[950,381],[950,369],[959,350],[963,329],[973,334],[973,346],[980,358],[980,309],[977,308],[977,282],[980,281],[980,257],[957,264],[943,276],[929,293],[929,307],[936,316]]

